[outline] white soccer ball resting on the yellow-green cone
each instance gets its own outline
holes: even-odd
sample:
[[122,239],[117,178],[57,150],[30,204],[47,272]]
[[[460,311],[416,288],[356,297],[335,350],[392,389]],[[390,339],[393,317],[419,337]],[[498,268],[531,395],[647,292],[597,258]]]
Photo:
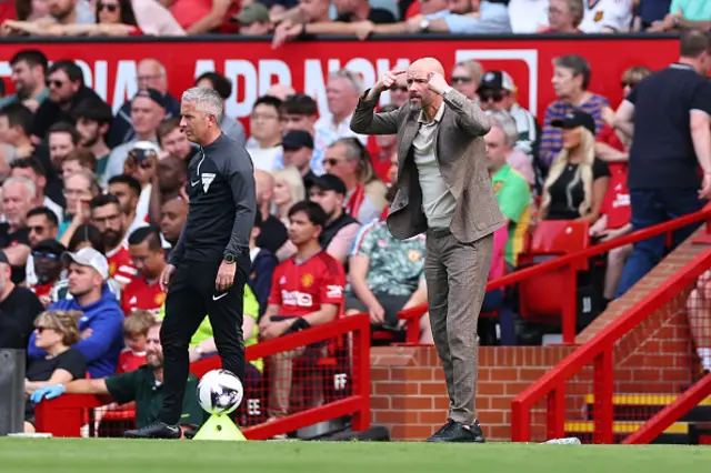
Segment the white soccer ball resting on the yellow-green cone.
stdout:
[[212,415],[234,411],[242,402],[244,389],[239,378],[227,370],[212,370],[198,383],[198,402]]

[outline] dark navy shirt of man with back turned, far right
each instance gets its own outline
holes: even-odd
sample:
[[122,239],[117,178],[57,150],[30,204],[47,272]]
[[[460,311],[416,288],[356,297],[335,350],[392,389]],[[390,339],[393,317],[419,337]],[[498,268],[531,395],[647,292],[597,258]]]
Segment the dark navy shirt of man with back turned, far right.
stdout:
[[625,100],[634,104],[629,189],[700,188],[689,120],[692,110],[711,114],[711,82],[674,63],[638,83]]

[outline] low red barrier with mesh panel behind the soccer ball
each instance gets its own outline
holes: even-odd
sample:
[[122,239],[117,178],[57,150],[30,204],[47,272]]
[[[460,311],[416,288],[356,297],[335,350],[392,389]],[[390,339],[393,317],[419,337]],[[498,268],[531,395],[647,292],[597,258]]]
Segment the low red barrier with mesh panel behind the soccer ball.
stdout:
[[[310,348],[318,346],[319,356],[306,359]],[[293,355],[299,351],[299,355]],[[312,351],[311,351],[312,352]],[[283,373],[270,366],[276,355],[289,353],[294,361],[293,385],[316,385],[318,394],[302,395],[292,388],[287,394],[292,402],[290,413],[283,419],[266,422],[266,411],[273,409],[269,391],[271,383],[279,381]],[[242,432],[249,440],[264,440],[308,427],[320,422],[351,415],[353,431],[370,427],[370,321],[368,315],[353,315],[329,324],[312,328],[257,345],[249,346],[246,361],[264,360],[267,365],[263,389],[248,392],[240,406],[238,421],[248,426]],[[200,378],[210,370],[221,366],[218,356],[209,358],[191,365],[191,372]],[[291,395],[289,395],[291,394]],[[294,401],[303,401],[294,409]],[[100,423],[100,415],[92,410],[111,402],[94,395],[62,395],[42,401],[36,407],[38,432],[54,436],[80,436],[88,422]],[[91,411],[91,412],[90,412]],[[119,417],[119,416],[113,416]],[[131,412],[121,415],[121,421],[132,421]],[[244,425],[244,424],[242,424]],[[106,429],[104,429],[106,430]],[[101,431],[99,426],[97,431]],[[113,430],[112,435],[122,432]]]

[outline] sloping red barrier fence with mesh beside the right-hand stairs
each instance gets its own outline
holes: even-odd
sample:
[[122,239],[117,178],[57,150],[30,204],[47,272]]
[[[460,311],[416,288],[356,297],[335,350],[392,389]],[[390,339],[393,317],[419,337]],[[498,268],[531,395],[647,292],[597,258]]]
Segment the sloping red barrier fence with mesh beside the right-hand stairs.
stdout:
[[[680,402],[689,407],[700,400],[704,392],[691,392],[687,400],[678,396],[699,378],[685,320],[708,324],[710,306],[695,313],[687,311],[687,303],[698,278],[709,268],[711,249],[517,396],[511,406],[511,440],[540,441],[575,433],[591,443],[613,443],[664,406]],[[670,416],[664,420],[660,427],[673,421]],[[673,436],[688,429],[684,423],[651,434]],[[648,432],[644,439],[657,436]]]

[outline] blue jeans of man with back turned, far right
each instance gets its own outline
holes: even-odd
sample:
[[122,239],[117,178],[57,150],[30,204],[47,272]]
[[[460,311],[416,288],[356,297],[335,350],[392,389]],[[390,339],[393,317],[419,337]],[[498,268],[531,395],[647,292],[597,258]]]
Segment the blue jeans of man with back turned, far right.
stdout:
[[[697,189],[655,189],[645,191],[630,191],[632,205],[632,227],[634,231],[647,229],[703,208]],[[683,227],[673,232],[673,245],[677,248],[699,228],[701,223]],[[622,296],[644,274],[661,261],[664,254],[667,235],[661,234],[642,240],[634,244],[630,259],[624,264],[620,285],[615,293]]]

